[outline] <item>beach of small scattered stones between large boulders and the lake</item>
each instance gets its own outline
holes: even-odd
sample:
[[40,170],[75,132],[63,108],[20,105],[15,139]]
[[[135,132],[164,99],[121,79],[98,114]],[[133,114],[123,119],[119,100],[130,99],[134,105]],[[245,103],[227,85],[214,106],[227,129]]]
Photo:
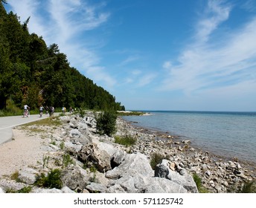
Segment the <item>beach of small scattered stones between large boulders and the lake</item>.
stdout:
[[[190,140],[148,131],[128,125],[122,120],[119,120],[118,126],[121,129],[120,134],[129,132],[138,137],[138,144],[133,146],[131,152],[144,152],[148,157],[154,152],[164,155],[176,167],[176,172],[185,170],[190,175],[198,175],[208,192],[234,192],[246,181],[256,179],[254,164],[238,163],[236,158],[232,161],[225,160],[201,149],[192,148]],[[179,173],[182,175],[182,172]]]

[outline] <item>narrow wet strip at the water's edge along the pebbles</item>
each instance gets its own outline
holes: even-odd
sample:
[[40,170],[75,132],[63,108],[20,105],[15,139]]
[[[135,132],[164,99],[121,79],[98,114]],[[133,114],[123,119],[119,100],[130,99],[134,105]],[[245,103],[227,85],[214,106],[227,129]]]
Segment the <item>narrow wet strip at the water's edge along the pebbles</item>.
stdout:
[[[175,139],[179,143],[181,143],[182,140],[190,140],[191,141],[190,137],[171,134],[170,131],[162,131],[161,129],[144,127],[144,126],[139,125],[139,123],[137,123],[137,122],[126,120],[124,117],[121,117],[121,119],[124,120],[124,122],[129,123],[129,125],[133,126],[134,128],[144,129],[144,131],[146,131],[146,132],[148,131],[148,132],[151,132],[152,134],[156,133],[156,134],[162,135],[162,136],[164,136],[165,140],[168,140],[167,137],[171,136],[171,137],[173,137],[173,139]],[[232,157],[231,155],[226,155],[226,156],[221,155],[221,154],[218,154],[217,152],[211,151],[210,148],[205,148],[203,146],[196,145],[195,143],[193,143],[193,141],[191,141],[190,146],[193,149],[196,149],[198,151],[207,152],[212,157],[218,158],[218,160],[234,160],[239,163],[243,163],[244,166],[248,166],[250,170],[255,171],[254,177],[256,178],[256,162],[254,162],[254,161],[241,159],[239,157]]]

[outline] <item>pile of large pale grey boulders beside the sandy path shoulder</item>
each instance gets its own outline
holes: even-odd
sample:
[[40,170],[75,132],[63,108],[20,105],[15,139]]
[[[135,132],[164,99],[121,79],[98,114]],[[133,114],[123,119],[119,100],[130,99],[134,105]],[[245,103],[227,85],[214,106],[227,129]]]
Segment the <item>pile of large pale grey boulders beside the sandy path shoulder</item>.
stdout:
[[[52,128],[27,127],[26,131],[29,128],[43,130],[34,134],[42,137],[43,148],[47,151],[41,162],[19,169],[15,181],[6,176],[0,178],[0,192],[17,192],[28,186],[32,187],[31,192],[36,193],[198,192],[185,166],[176,163],[174,159],[163,160],[153,171],[150,154],[161,149],[154,142],[154,134],[138,132],[118,119],[117,134],[138,137],[138,144],[125,147],[114,143],[113,137],[96,133],[96,121],[91,112],[87,112],[86,117],[74,114],[56,119],[60,119],[63,125]],[[48,175],[54,169],[61,170],[62,189],[46,189],[34,185],[39,175]]]

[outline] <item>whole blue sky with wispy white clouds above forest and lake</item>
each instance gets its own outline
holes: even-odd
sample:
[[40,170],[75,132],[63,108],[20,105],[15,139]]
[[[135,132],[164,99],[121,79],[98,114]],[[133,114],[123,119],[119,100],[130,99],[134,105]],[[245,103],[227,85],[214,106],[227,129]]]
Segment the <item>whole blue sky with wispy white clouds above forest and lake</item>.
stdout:
[[127,110],[256,111],[255,0],[9,0]]

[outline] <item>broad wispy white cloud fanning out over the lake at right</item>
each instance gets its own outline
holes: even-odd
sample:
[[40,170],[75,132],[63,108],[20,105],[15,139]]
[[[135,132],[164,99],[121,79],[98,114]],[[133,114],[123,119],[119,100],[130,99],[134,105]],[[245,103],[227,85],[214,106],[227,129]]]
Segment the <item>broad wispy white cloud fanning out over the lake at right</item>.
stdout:
[[256,83],[256,18],[251,19],[231,33],[212,37],[220,25],[228,19],[231,6],[208,1],[204,17],[196,25],[196,35],[178,57],[178,64],[164,62],[168,71],[161,90],[182,90],[185,94],[202,91],[225,93],[237,86],[249,90],[249,83]]

